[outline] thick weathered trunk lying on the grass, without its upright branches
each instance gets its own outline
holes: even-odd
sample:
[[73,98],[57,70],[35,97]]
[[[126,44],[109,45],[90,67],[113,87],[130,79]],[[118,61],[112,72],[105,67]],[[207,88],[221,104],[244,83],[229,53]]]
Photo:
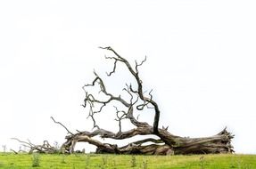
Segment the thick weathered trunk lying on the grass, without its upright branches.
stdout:
[[[149,135],[153,133],[153,127],[139,128],[131,130],[124,135],[120,133],[111,133],[105,130],[97,130],[93,133],[79,132],[66,136],[67,141],[62,144],[62,152],[73,153],[77,142],[88,142],[95,145],[96,153],[109,154],[145,154],[145,155],[185,155],[185,154],[217,154],[233,153],[234,149],[230,144],[234,137],[228,133],[226,128],[220,133],[211,137],[186,138],[170,134],[166,130],[159,129],[158,136],[161,138],[155,140],[148,138],[142,141],[135,141],[126,146],[118,147],[116,144],[103,143],[96,141],[93,137],[100,135],[102,138],[111,138],[121,140],[124,137],[130,138],[134,135]],[[145,143],[151,142],[149,145]]]

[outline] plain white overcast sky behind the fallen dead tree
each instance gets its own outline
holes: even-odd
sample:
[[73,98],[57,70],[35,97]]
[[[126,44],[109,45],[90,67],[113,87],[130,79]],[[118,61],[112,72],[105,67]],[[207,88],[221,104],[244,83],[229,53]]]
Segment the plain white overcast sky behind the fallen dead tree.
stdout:
[[[236,152],[256,153],[255,8],[246,0],[0,1],[0,144],[62,143],[66,132],[51,116],[91,130],[81,86],[94,68],[111,69],[97,48],[111,45],[131,62],[147,55],[140,75],[169,132],[209,136],[227,126]],[[128,75],[118,70],[113,92]],[[112,126],[103,116],[100,125]]]

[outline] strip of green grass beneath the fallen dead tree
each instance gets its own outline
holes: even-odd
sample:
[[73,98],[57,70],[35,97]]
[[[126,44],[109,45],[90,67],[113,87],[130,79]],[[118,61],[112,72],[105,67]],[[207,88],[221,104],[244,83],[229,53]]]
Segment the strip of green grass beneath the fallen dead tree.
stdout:
[[[256,155],[125,156],[125,155],[33,155],[0,153],[0,169],[256,169]],[[132,167],[132,164],[136,163]]]

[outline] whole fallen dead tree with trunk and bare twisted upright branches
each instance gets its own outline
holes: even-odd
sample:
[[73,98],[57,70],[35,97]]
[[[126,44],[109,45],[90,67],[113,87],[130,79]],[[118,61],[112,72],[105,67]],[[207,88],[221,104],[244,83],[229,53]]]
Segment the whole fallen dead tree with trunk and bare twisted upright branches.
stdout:
[[[113,56],[105,57],[107,60],[113,60],[113,68],[107,76],[111,76],[116,72],[118,64],[125,66],[128,72],[135,79],[136,84],[126,84],[123,90],[128,94],[129,99],[124,99],[121,95],[114,95],[110,93],[105,86],[101,76],[98,76],[96,72],[95,79],[91,84],[85,84],[83,90],[86,93],[84,100],[84,107],[89,108],[88,117],[94,122],[94,130],[92,132],[78,132],[70,133],[70,131],[62,125],[60,122],[56,122],[62,125],[67,131],[68,135],[65,137],[66,141],[62,144],[62,150],[64,152],[72,153],[77,142],[88,142],[96,146],[97,153],[114,153],[114,154],[147,154],[147,155],[169,155],[169,154],[208,154],[208,153],[232,153],[234,152],[231,145],[231,140],[234,135],[228,133],[226,128],[220,133],[211,137],[203,138],[186,138],[173,135],[168,132],[168,127],[160,128],[160,109],[158,103],[153,100],[152,91],[145,92],[142,84],[142,79],[139,76],[139,67],[145,63],[145,60],[141,62],[135,62],[132,66],[128,60],[120,56],[118,52],[115,52],[111,47],[100,47],[103,50],[111,52]],[[103,93],[105,100],[98,99],[95,94],[88,93],[89,87],[100,87],[100,93]],[[108,106],[112,101],[118,101],[123,106],[124,110],[115,108],[116,121],[119,122],[119,132],[113,133],[108,130],[104,130],[96,124],[95,114],[102,113],[104,107]],[[95,109],[95,108],[99,109]],[[139,121],[134,117],[136,111],[146,111],[147,109],[154,110],[153,124]],[[121,122],[124,119],[128,119],[129,122],[134,125],[133,129],[128,131],[122,131]],[[54,120],[54,119],[53,119]],[[141,141],[134,141],[126,146],[118,147],[116,144],[103,143],[97,141],[95,136],[101,138],[109,138],[113,140],[125,140],[132,138],[136,135],[147,135],[146,138]],[[158,139],[154,139],[151,136],[155,135]],[[145,144],[146,143],[146,144]]]

